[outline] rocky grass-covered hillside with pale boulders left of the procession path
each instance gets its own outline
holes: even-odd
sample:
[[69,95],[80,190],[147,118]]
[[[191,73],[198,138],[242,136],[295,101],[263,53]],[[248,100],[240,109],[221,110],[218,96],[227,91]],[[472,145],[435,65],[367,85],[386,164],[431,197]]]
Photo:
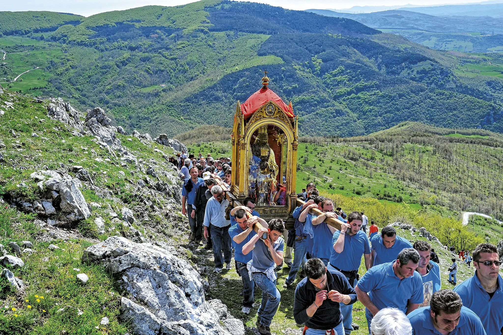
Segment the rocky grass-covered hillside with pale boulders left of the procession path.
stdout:
[[187,261],[180,149],[0,88],[0,333],[244,332]]

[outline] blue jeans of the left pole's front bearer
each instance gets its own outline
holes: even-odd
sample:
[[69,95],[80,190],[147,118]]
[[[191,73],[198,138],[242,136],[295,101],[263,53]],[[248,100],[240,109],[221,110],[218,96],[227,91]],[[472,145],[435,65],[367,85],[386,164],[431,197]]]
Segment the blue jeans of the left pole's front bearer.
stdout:
[[276,282],[267,278],[265,273],[256,272],[252,276],[262,290],[262,303],[257,314],[260,316],[260,323],[269,327],[280,305],[281,294],[276,288]]

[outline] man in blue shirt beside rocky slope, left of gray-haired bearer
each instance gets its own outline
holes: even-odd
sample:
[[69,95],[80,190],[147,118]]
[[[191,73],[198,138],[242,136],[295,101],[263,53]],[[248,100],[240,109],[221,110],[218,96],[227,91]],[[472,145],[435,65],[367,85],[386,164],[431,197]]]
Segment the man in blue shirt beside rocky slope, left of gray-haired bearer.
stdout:
[[189,174],[191,178],[187,178],[182,187],[182,214],[189,217],[191,230],[190,240],[194,241],[196,239],[201,240],[203,222],[198,222],[198,220],[196,220],[196,206],[194,206],[194,204],[196,200],[196,189],[200,184],[204,183],[204,180],[197,177],[199,172],[196,166],[190,169]]

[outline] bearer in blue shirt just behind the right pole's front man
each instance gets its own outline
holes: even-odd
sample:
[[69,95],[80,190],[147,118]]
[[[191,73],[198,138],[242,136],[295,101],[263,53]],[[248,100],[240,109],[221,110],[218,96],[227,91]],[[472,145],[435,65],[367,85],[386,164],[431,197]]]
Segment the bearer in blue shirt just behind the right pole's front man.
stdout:
[[328,265],[330,259],[330,250],[332,249],[332,236],[336,232],[336,228],[326,224],[324,221],[327,217],[336,218],[338,215],[333,212],[332,199],[325,198],[321,202],[321,211],[323,214],[318,215],[311,220],[313,225],[313,249],[312,257],[319,258],[323,263]]

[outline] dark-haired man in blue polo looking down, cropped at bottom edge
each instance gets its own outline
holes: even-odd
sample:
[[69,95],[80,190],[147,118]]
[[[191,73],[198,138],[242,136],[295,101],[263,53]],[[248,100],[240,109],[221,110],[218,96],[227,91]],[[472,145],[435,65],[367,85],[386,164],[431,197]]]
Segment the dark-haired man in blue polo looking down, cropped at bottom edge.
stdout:
[[459,295],[452,290],[435,292],[430,306],[418,308],[407,317],[412,335],[486,335],[480,318],[464,307]]

